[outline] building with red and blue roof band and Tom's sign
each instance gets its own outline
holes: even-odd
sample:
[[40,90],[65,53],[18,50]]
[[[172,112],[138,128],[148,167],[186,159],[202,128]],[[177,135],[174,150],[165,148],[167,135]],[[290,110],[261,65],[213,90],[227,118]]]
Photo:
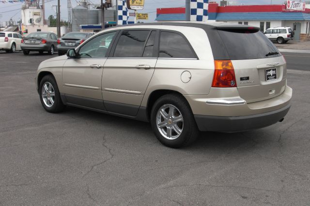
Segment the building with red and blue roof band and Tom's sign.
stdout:
[[[239,5],[218,6],[209,2],[209,20],[245,24],[259,27],[262,32],[274,27],[291,27],[295,40],[310,37],[310,9],[304,11],[287,10],[286,5]],[[156,21],[185,21],[185,8],[157,9]]]

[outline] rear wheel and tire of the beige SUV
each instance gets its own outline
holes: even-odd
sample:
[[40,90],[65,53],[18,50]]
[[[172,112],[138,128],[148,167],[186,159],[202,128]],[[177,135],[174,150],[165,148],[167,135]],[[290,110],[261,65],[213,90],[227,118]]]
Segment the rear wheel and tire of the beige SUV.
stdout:
[[151,126],[156,138],[172,148],[190,145],[199,134],[190,106],[179,94],[167,94],[155,102]]

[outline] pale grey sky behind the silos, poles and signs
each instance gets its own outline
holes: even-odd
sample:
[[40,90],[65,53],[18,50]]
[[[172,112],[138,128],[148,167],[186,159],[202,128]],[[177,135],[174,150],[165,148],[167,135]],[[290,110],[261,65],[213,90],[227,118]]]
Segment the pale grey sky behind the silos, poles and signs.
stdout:
[[[1,0],[0,0],[1,1]],[[52,5],[57,5],[57,0],[45,0],[49,1],[45,4],[45,15],[46,18],[49,15],[56,16],[56,8],[52,8]],[[71,0],[72,7],[77,6],[78,0]],[[211,0],[210,0],[211,1]],[[213,0],[219,2],[219,0]],[[230,0],[229,0],[230,1]],[[284,0],[231,0],[235,1],[237,5],[242,3],[246,5],[258,5],[258,4],[282,4]],[[61,19],[68,20],[67,0],[60,0],[61,2]],[[95,4],[99,4],[100,0],[91,0]],[[185,7],[185,0],[145,0],[144,9],[140,10],[139,13],[148,13],[149,20],[152,22],[156,18],[156,8],[169,8],[169,7]],[[11,18],[15,21],[21,18],[21,3],[1,3],[0,2],[0,22],[8,21]],[[129,21],[133,20],[130,17]]]

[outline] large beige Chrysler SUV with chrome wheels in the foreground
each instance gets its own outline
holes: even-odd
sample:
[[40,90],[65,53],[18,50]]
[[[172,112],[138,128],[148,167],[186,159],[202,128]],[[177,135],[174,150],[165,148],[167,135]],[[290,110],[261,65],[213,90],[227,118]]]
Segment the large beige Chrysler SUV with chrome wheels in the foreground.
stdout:
[[227,23],[105,29],[43,61],[35,83],[47,112],[69,105],[147,121],[168,147],[199,131],[275,124],[292,98],[278,49],[259,28]]

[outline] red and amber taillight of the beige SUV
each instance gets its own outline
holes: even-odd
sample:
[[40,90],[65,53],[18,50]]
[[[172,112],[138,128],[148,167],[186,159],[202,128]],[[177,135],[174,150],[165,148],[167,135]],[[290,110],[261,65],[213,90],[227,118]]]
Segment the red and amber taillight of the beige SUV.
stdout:
[[234,74],[231,60],[215,60],[215,71],[212,87],[237,87],[236,76]]

